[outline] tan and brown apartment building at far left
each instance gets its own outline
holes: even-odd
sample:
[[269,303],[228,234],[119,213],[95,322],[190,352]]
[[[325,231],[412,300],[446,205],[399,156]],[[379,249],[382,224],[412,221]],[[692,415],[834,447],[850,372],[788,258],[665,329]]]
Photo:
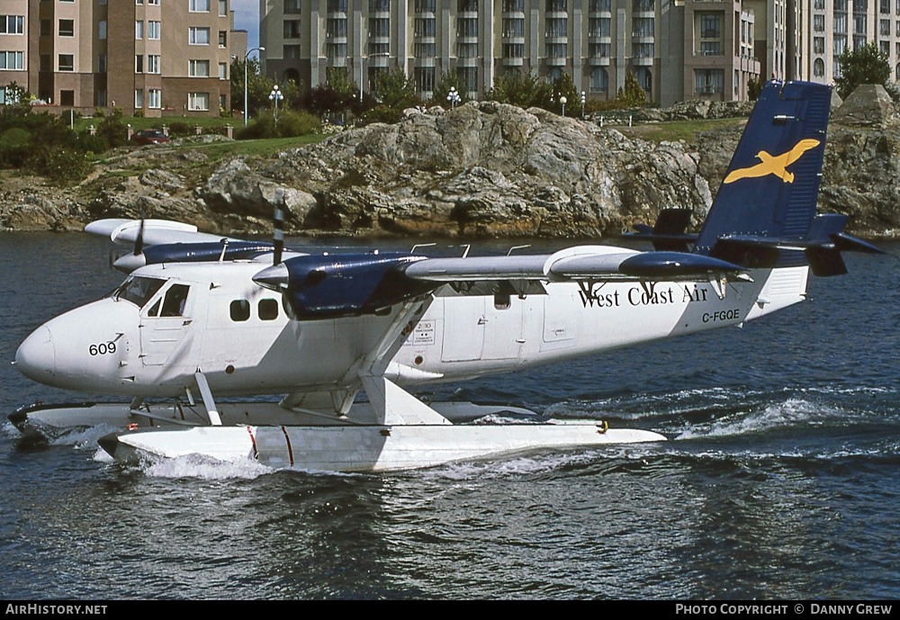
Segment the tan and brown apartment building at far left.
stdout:
[[147,116],[230,107],[229,0],[0,0],[0,103]]

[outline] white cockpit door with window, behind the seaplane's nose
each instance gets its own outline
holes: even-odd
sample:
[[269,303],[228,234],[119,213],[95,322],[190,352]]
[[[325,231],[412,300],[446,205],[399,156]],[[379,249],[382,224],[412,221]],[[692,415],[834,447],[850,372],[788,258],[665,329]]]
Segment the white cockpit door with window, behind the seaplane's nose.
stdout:
[[190,347],[194,296],[188,284],[173,283],[141,311],[140,359],[145,366],[166,364]]

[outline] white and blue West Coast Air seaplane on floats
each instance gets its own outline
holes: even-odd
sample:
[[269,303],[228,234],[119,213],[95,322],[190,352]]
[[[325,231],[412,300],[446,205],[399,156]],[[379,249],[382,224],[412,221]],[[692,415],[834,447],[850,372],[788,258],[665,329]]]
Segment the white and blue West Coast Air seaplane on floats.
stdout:
[[[99,444],[116,461],[329,472],[662,442],[410,391],[739,326],[803,301],[810,273],[846,273],[843,251],[880,252],[842,232],[846,216],[815,213],[830,103],[825,85],[766,85],[699,232],[686,232],[689,211],[664,210],[633,233],[647,251],[307,254],[284,250],[277,227],[258,243],[95,221],[88,233],[133,247],[116,261],[126,279],[36,328],[14,364],[35,382],[130,401],[9,418],[25,432],[112,424]],[[281,400],[228,400],[261,395]]]

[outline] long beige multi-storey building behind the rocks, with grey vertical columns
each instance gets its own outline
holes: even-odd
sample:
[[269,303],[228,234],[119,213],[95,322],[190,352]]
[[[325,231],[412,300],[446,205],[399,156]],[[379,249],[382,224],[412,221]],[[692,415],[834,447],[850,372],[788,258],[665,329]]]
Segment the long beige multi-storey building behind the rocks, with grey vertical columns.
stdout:
[[663,104],[743,100],[761,74],[751,1],[260,0],[261,59],[276,80],[315,86],[342,67],[366,90],[400,67],[423,97],[445,71],[481,96],[518,70],[564,71],[589,98],[633,73]]

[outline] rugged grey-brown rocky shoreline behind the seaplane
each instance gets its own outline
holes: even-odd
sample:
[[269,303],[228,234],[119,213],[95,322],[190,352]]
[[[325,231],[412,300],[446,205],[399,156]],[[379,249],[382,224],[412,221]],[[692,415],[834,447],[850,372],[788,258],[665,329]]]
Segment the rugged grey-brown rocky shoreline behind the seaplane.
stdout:
[[[676,118],[723,114],[708,104],[682,108]],[[849,215],[851,234],[896,238],[900,130],[893,109],[862,126],[842,124],[838,112],[820,211]],[[626,131],[473,102],[452,112],[408,110],[398,123],[346,130],[275,157],[213,164],[202,148],[132,148],[62,190],[4,171],[0,227],[76,230],[143,211],[222,234],[267,234],[280,196],[287,232],[306,235],[600,238],[652,223],[669,207],[691,209],[695,223],[702,221],[742,123],[691,142],[657,144]]]

